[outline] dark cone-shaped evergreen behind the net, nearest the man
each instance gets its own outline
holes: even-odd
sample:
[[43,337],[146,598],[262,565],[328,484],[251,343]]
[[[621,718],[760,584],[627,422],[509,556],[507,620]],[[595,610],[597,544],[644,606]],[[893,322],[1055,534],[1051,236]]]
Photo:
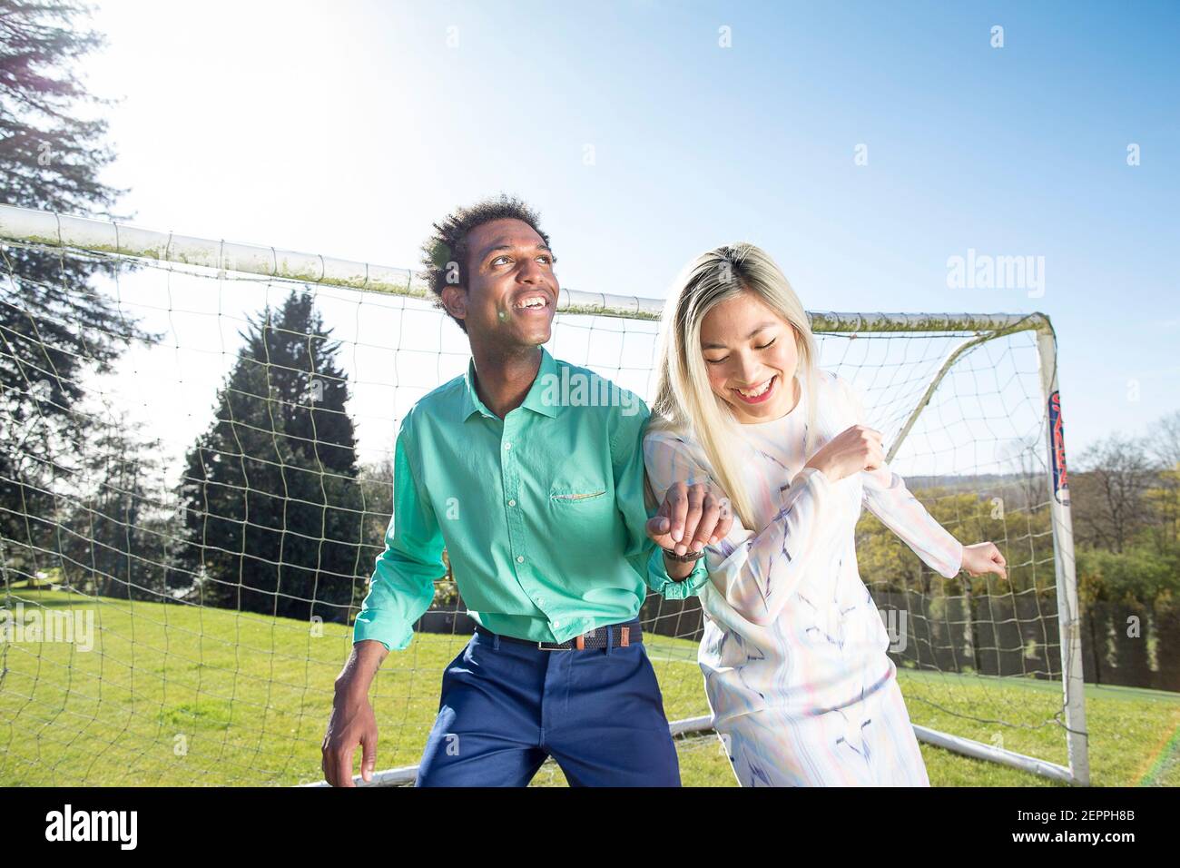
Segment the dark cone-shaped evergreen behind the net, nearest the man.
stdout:
[[347,378],[310,300],[263,311],[188,456],[179,564],[205,605],[346,621],[363,513]]

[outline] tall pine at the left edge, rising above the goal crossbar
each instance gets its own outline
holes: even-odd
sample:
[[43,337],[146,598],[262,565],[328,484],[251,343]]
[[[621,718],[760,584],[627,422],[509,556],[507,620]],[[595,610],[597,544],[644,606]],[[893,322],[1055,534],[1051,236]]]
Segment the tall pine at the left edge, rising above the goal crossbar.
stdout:
[[[114,158],[101,144],[106,122],[71,117],[80,103],[109,102],[70,68],[104,41],[73,26],[86,11],[0,0],[0,203],[113,216],[105,209],[124,192],[99,181]],[[129,344],[156,339],[92,288],[114,267],[0,249],[0,537],[15,543],[9,566],[35,569],[38,549],[54,546],[54,466],[80,452],[88,424],[76,410],[83,376],[106,373]]]

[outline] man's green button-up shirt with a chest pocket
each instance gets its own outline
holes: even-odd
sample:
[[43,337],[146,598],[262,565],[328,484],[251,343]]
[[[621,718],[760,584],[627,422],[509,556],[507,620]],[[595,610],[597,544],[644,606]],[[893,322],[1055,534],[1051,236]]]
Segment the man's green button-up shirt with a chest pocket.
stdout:
[[402,419],[393,516],[354,642],[409,645],[446,574],[444,547],[476,621],[518,639],[565,641],[635,618],[647,587],[684,599],[708,581],[703,559],[670,579],[644,530],[656,511],[643,497],[647,405],[540,353],[504,419],[479,399],[473,361]]

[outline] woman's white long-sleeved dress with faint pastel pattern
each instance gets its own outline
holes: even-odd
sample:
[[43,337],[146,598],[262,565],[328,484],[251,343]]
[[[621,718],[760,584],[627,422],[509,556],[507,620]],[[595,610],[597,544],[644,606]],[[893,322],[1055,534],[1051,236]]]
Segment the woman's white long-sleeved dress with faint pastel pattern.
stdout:
[[[807,402],[742,425],[758,531],[734,521],[706,548],[697,661],[734,774],[753,785],[929,785],[902,700],[889,633],[857,569],[861,504],[932,569],[958,574],[962,544],[887,466],[831,482],[802,469]],[[854,387],[817,371],[819,449],[865,423]],[[714,482],[695,440],[644,438],[651,487]]]

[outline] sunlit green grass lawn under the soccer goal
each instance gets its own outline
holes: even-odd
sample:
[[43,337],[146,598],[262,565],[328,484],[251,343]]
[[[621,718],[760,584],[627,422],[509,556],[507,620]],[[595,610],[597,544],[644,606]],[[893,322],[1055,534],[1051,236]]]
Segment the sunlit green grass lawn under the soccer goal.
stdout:
[[[321,781],[333,679],[352,634],[225,609],[94,601],[13,588],[9,608],[93,613],[92,651],[0,642],[0,785],[261,785]],[[44,608],[42,608],[44,607]],[[438,709],[439,678],[466,637],[419,634],[391,654],[373,692],[378,768],[413,765]],[[671,720],[708,713],[695,642],[650,637]],[[916,724],[1064,762],[1051,720],[1060,685],[900,672]],[[1003,719],[1018,725],[956,717]],[[1088,686],[1095,785],[1180,784],[1180,694]],[[678,739],[686,785],[733,787],[716,736]],[[936,787],[1053,787],[1036,776],[922,746]],[[359,755],[358,755],[359,759]],[[546,763],[536,785],[563,785]]]

